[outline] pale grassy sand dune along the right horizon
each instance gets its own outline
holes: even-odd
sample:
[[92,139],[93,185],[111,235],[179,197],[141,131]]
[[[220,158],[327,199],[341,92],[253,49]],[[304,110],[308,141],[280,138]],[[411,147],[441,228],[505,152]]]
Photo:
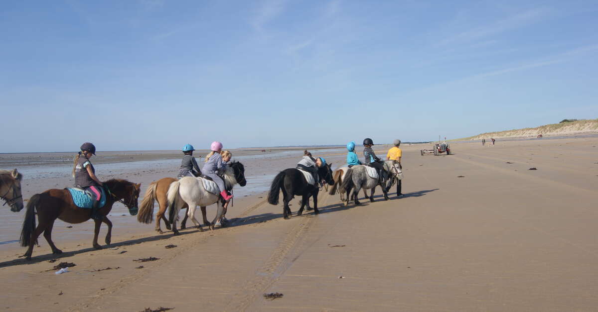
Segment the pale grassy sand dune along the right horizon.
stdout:
[[478,134],[477,136],[464,137],[459,140],[481,140],[490,139],[494,137],[526,137],[526,136],[538,136],[538,134],[544,135],[558,135],[558,134],[572,134],[572,133],[584,133],[598,131],[598,119],[590,120],[576,120],[576,119],[565,119],[560,121],[558,124],[547,124],[545,126],[539,126],[535,128],[524,128],[524,129],[513,129],[505,131],[487,132]]

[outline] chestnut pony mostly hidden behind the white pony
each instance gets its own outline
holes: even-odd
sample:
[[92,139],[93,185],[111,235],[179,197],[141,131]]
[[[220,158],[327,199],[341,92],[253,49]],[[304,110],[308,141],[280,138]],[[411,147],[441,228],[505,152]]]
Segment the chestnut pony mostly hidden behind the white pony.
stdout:
[[[139,206],[139,215],[137,215],[137,221],[145,224],[149,224],[154,221],[154,203],[158,200],[158,206],[160,210],[155,215],[155,230],[158,233],[163,233],[162,229],[160,228],[160,220],[164,221],[164,225],[168,230],[172,230],[170,227],[170,222],[164,216],[166,213],[166,209],[168,208],[168,204],[166,203],[166,192],[170,186],[170,183],[178,181],[175,178],[162,178],[158,181],[152,182],[147,191],[145,191],[144,199],[141,201],[141,206]],[[187,203],[184,204],[182,209],[188,208]],[[209,227],[210,222],[208,218],[206,218],[206,207],[202,206],[202,216],[203,216],[203,223]],[[185,228],[185,223],[187,222],[187,213],[185,213],[185,219],[181,224],[181,229]]]

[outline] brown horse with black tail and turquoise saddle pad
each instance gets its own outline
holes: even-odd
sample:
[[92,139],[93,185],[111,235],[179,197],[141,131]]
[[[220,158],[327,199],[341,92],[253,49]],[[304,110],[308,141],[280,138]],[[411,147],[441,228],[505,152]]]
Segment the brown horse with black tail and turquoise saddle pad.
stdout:
[[[97,243],[97,235],[100,232],[100,225],[104,222],[108,225],[108,234],[106,234],[106,245],[110,244],[112,237],[112,222],[106,217],[112,209],[112,204],[120,201],[129,208],[131,215],[137,214],[137,199],[139,198],[139,186],[141,184],[132,183],[121,179],[111,179],[104,182],[106,191],[106,204],[98,210],[104,216],[102,220],[94,220],[96,228],[93,235],[93,247],[102,249]],[[39,225],[35,227],[35,212],[37,212]],[[75,206],[71,192],[67,189],[48,189],[41,194],[35,194],[27,203],[25,212],[25,221],[23,221],[23,230],[21,232],[21,246],[29,249],[25,253],[28,260],[31,259],[33,245],[37,242],[39,234],[44,232],[45,240],[52,248],[52,253],[62,253],[62,250],[56,248],[52,241],[52,227],[54,221],[60,219],[68,223],[81,223],[91,218],[91,209],[83,209]]]

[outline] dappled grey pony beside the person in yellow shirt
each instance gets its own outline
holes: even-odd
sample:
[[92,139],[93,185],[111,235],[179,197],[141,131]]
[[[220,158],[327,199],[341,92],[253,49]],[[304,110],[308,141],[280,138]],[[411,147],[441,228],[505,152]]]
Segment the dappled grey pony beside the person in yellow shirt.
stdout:
[[[383,167],[386,173],[389,173],[390,167],[392,167],[392,160],[385,161],[383,163]],[[381,172],[382,175],[386,175],[386,173]],[[371,189],[370,201],[374,201],[374,189],[376,189],[377,185],[380,185],[380,187],[382,188],[384,199],[388,200],[388,194],[386,193],[386,182],[380,182],[379,179],[371,178],[371,176],[368,175],[365,166],[358,165],[353,166],[349,168],[349,170],[347,170],[347,173],[345,173],[344,175],[344,180],[339,188],[339,191],[347,192],[346,205],[349,205],[349,201],[352,198],[355,200],[355,204],[357,205],[360,204],[358,200],[359,190],[362,188]],[[355,188],[355,190],[353,191],[353,194],[350,196],[352,188]]]

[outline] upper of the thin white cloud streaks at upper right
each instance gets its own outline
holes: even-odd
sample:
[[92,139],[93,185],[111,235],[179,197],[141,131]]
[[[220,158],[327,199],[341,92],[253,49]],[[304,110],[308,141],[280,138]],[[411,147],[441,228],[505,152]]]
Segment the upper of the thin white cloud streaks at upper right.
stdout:
[[509,16],[507,17],[507,19],[499,20],[498,22],[492,23],[490,25],[475,27],[474,29],[466,30],[465,32],[449,36],[448,38],[441,40],[438,44],[447,45],[483,39],[487,36],[496,35],[498,33],[506,32],[512,29],[517,29],[538,22],[539,20],[542,20],[544,17],[548,16],[550,12],[550,10],[545,8],[535,8],[533,10],[527,10]]

